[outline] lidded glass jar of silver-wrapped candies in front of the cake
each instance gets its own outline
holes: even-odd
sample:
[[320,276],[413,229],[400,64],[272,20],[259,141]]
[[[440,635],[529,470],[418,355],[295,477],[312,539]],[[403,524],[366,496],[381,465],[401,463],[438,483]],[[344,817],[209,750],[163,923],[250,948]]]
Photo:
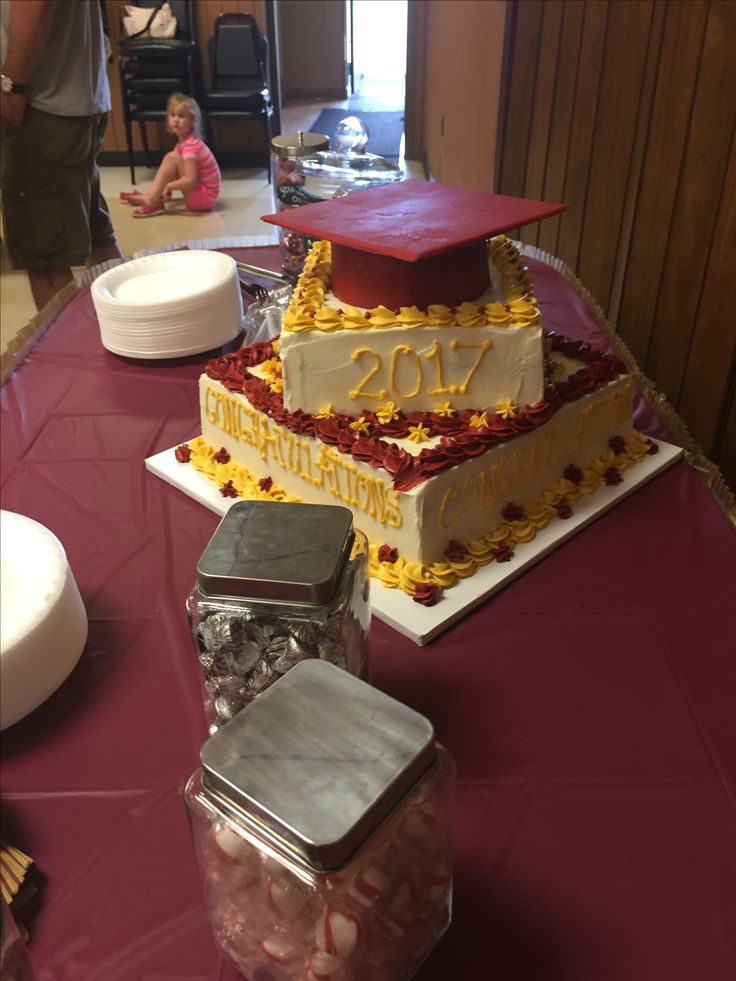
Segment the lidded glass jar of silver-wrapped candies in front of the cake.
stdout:
[[300,661],[368,678],[369,582],[367,542],[347,508],[234,504],[187,601],[210,731]]

